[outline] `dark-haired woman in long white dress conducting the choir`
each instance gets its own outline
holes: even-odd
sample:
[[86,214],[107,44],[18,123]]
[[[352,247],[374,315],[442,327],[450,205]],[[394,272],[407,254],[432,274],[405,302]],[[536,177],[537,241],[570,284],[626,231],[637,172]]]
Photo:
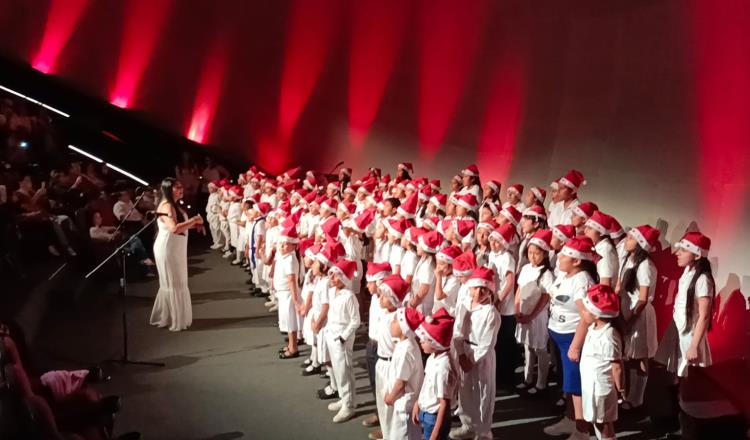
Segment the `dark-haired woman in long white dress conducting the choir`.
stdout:
[[189,229],[203,231],[203,218],[188,218],[177,202],[184,193],[179,180],[167,177],[161,183],[161,200],[156,209],[159,233],[154,241],[154,260],[159,272],[159,292],[151,310],[151,325],[169,326],[177,332],[190,327],[193,309],[190,303],[187,273],[187,233]]

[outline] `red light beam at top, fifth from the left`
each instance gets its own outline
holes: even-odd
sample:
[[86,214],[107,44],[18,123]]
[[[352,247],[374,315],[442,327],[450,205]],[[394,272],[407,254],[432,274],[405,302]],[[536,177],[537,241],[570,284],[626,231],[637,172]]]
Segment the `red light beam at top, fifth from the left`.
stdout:
[[353,4],[349,51],[349,139],[359,150],[375,120],[393,69],[408,16],[403,0]]

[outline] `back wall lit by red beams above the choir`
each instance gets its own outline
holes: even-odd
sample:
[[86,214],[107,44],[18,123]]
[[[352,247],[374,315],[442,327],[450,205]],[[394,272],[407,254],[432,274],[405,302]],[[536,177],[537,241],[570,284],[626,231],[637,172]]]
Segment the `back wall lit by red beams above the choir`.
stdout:
[[446,184],[576,167],[624,224],[696,222],[745,292],[747,29],[746,0],[0,1],[0,50],[207,148]]

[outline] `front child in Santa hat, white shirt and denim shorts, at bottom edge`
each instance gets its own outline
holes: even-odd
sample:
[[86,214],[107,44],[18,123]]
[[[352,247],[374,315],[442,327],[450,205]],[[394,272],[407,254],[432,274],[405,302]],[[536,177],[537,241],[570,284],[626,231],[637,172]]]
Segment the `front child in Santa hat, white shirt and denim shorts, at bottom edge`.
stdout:
[[417,328],[420,346],[428,354],[419,399],[412,410],[412,423],[422,427],[424,440],[447,440],[451,427],[451,404],[456,401],[458,372],[450,356],[454,319],[444,308]]

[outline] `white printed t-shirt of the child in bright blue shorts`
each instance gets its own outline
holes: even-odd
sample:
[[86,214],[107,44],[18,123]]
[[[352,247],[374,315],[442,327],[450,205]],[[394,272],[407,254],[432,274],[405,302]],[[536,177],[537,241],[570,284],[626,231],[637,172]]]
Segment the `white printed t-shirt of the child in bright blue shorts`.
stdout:
[[575,333],[581,315],[576,301],[583,300],[594,284],[588,272],[563,275],[555,280],[550,289],[550,317],[548,327],[555,333]]

